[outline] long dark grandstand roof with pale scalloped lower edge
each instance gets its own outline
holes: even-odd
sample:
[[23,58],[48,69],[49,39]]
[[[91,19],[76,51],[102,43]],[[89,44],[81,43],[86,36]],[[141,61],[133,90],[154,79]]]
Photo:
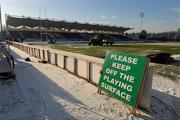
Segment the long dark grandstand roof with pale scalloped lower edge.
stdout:
[[[39,18],[30,18],[30,17],[16,17],[16,16],[6,16],[6,23],[12,27],[26,26],[29,28],[39,28],[40,23],[41,27],[48,30],[76,30],[76,31],[94,31],[94,32],[113,32],[113,33],[124,33],[130,28],[109,26],[109,25],[99,25],[99,24],[89,24],[89,23],[78,23],[78,22],[66,22],[66,21],[55,21],[49,19],[39,19]],[[47,24],[46,24],[47,23]],[[24,28],[23,28],[24,29]]]

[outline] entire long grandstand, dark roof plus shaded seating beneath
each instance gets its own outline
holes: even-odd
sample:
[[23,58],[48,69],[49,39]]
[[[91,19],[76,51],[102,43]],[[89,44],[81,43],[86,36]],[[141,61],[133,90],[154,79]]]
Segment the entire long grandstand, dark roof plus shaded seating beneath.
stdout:
[[115,40],[128,39],[123,33],[131,28],[67,22],[64,20],[42,19],[6,14],[7,37],[14,41],[87,40],[84,36],[110,36]]

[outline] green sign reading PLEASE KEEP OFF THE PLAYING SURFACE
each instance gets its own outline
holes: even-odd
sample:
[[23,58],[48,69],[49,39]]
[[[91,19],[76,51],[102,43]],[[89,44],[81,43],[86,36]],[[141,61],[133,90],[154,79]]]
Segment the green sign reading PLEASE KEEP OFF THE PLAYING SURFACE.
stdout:
[[98,88],[133,107],[136,106],[148,59],[143,56],[108,52]]

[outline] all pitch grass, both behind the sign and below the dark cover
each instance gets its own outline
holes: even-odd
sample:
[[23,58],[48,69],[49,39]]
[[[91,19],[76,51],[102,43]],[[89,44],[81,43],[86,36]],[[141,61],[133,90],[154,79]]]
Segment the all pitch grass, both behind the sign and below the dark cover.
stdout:
[[[153,53],[167,52],[172,55],[180,54],[180,46],[170,45],[148,45],[148,44],[122,44],[113,46],[88,46],[88,45],[62,45],[62,44],[46,44],[41,45],[52,49],[80,53],[84,55],[104,58],[108,50],[131,53],[137,55],[148,55]],[[154,64],[152,66],[156,74],[168,77],[173,81],[180,79],[180,67],[173,65]]]

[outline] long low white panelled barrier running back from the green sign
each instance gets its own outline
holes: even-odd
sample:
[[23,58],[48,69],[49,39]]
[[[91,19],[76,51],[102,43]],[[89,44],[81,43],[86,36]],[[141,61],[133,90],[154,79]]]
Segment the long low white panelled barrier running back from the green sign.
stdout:
[[9,42],[9,44],[91,83],[96,85],[99,83],[100,71],[104,59],[17,42]]

